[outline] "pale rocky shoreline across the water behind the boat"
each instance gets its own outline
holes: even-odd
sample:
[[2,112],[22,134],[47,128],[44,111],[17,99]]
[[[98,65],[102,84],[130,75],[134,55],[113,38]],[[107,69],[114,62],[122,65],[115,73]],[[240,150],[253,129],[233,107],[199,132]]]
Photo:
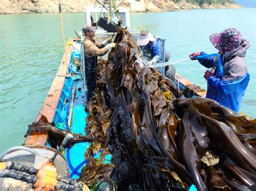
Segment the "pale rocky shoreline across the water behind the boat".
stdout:
[[[163,2],[154,0],[152,2],[125,0],[122,4],[123,8],[129,9],[130,12],[170,12],[170,11],[188,11],[195,9],[243,9],[244,7],[239,4],[225,3],[225,4],[192,4],[185,1],[174,3],[172,1]],[[85,6],[95,6],[94,3],[88,2],[81,4],[76,0],[69,0],[62,3],[63,13],[84,13]],[[26,14],[26,13],[58,13],[58,1],[45,1],[35,3],[25,0],[19,0],[16,3],[0,4],[0,15],[13,15],[13,14]]]

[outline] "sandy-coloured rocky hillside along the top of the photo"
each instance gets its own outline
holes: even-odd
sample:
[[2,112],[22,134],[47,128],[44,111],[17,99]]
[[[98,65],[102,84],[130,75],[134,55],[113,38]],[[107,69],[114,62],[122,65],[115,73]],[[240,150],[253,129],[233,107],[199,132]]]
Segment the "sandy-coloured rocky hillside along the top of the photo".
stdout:
[[[58,12],[58,2],[58,0],[1,0],[0,13],[54,13]],[[95,5],[95,1],[90,0],[63,0],[60,3],[63,12],[84,12],[84,6]],[[122,6],[131,12],[242,8],[233,0],[125,0]]]

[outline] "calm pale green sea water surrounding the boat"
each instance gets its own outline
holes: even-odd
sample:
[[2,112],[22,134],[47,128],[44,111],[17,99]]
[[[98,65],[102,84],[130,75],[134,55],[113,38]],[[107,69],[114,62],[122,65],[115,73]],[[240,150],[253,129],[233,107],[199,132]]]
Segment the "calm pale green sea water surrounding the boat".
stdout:
[[[63,14],[65,39],[84,25],[83,13]],[[241,111],[256,117],[256,9],[191,10],[131,13],[131,27],[166,39],[171,60],[192,52],[215,53],[208,36],[236,27],[251,42],[246,61],[251,74]],[[62,59],[64,48],[58,14],[0,15],[0,153],[21,145],[36,118]],[[206,68],[197,61],[174,65],[188,80],[206,88]]]

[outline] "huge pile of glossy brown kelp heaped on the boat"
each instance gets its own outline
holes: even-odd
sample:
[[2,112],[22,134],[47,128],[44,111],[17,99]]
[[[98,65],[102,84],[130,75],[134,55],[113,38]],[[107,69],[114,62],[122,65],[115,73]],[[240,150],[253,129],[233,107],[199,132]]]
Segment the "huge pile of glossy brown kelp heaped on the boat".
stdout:
[[[111,179],[120,190],[255,189],[256,121],[207,98],[185,98],[158,69],[140,66],[126,30],[115,43],[99,61],[87,103],[85,131],[102,142],[86,151],[80,180],[93,187]],[[108,153],[112,161],[103,164]]]

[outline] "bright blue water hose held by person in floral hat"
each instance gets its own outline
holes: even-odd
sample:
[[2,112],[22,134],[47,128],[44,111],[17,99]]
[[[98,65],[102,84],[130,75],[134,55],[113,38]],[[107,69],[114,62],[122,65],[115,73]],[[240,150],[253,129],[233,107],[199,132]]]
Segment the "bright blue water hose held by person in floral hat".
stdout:
[[[219,68],[219,71],[220,71],[220,76],[222,78],[224,76],[223,55],[221,55],[219,53],[206,54],[206,55],[196,56],[195,59],[204,59],[204,58],[209,58],[209,57],[213,57],[213,56],[218,56],[218,68]],[[230,100],[231,100],[232,109],[234,111],[238,112],[239,110],[237,108],[237,103],[235,103],[234,94],[231,93],[229,96],[230,96]]]

